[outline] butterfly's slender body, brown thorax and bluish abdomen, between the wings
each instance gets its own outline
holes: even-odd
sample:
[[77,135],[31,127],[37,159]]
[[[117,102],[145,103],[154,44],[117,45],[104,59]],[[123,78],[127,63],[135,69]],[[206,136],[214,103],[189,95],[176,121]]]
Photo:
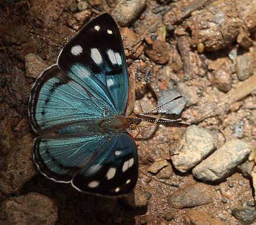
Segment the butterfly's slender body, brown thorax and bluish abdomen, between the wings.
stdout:
[[62,135],[97,135],[102,133],[126,131],[127,128],[129,128],[129,118],[116,115],[69,124],[56,130],[56,133]]

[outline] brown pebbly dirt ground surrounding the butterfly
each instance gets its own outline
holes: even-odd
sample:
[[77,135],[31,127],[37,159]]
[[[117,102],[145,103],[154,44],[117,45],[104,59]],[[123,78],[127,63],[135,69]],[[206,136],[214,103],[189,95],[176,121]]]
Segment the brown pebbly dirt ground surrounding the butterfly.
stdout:
[[[34,217],[38,224],[255,224],[250,173],[255,166],[256,1],[88,2],[0,1],[1,224],[33,224],[26,217],[44,210],[34,210],[37,201],[29,202],[30,196],[44,202],[45,217]],[[128,6],[126,21],[118,10]],[[86,195],[39,174],[27,117],[35,78],[56,63],[84,23],[105,11],[122,24],[130,75],[127,111],[154,109],[162,91],[172,88],[187,99],[185,106],[176,106],[182,109],[178,116],[152,113],[181,117],[186,124],[141,124],[138,182],[134,192],[118,199]],[[251,161],[215,183],[197,180],[191,170],[179,172],[172,147],[189,124],[211,134],[216,148],[237,138],[246,142],[254,153]],[[12,202],[24,204],[23,211],[14,213],[19,205]]]

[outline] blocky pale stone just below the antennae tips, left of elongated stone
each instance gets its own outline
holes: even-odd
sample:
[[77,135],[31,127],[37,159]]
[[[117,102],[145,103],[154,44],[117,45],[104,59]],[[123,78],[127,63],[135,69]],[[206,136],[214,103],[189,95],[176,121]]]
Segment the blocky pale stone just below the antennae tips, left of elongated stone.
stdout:
[[186,173],[214,151],[216,138],[204,129],[191,125],[171,148],[173,165],[180,172]]

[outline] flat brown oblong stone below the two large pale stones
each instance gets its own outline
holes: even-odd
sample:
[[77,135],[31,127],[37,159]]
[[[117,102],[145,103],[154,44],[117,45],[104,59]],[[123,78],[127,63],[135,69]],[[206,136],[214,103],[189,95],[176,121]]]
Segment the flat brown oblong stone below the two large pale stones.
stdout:
[[190,208],[213,202],[214,194],[214,188],[198,183],[174,192],[168,202],[175,209]]

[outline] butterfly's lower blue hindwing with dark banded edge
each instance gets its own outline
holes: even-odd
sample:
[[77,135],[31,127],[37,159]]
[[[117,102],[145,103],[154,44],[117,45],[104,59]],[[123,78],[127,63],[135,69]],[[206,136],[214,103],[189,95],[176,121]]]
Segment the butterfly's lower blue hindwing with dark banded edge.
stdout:
[[96,149],[104,149],[106,142],[105,135],[39,137],[34,143],[34,159],[45,176],[68,183],[93,159]]

